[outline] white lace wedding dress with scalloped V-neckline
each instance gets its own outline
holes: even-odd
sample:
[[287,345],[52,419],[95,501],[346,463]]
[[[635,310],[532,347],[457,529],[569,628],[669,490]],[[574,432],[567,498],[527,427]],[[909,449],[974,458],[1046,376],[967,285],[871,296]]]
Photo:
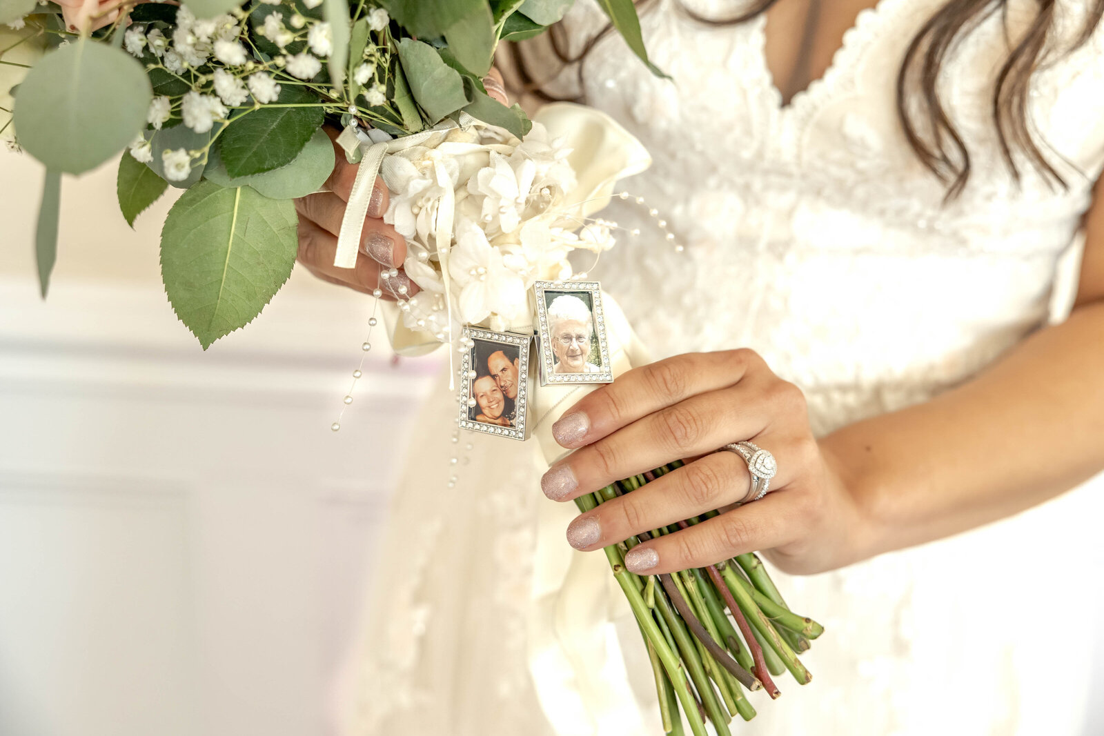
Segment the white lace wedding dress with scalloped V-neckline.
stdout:
[[[941,4],[881,0],[861,12],[828,72],[786,106],[765,66],[763,17],[710,28],[673,0],[654,3],[644,35],[673,83],[652,77],[616,34],[595,46],[582,75],[588,104],[654,158],[622,185],[661,210],[686,243],[676,253],[633,201],[602,213],[641,234],[620,237],[591,274],[655,358],[750,346],[803,388],[819,436],[923,402],[1064,318],[1069,306],[1052,303],[1058,264],[1079,247],[1104,167],[1104,32],[1038,72],[1032,86],[1034,127],[1068,190],[1026,163],[1017,185],[990,119],[1007,38],[1036,3],[1009,3],[1009,36],[999,13],[967,36],[942,90],[973,177],[943,205],[944,185],[905,142],[894,104],[903,49]],[[1059,31],[1069,33],[1080,26],[1078,7],[1091,3],[1058,4]],[[690,6],[714,17],[731,9],[723,0]],[[567,22],[578,45],[604,19],[578,0]],[[533,442],[452,441],[446,383],[420,419],[375,545],[350,660],[349,733],[661,733],[640,636],[627,606],[617,608],[604,555],[563,540],[574,504],[540,492]],[[772,570],[794,610],[825,633],[802,658],[813,682],[776,678],[782,697],[753,694],[757,717],[736,718],[733,733],[1081,733],[1098,610],[1091,580],[1104,562],[1094,533],[1102,480],[845,569]],[[551,525],[541,521],[549,509],[560,514]],[[575,578],[559,580],[559,597],[534,612],[553,553],[604,569],[608,598],[594,595],[593,580],[577,589]],[[608,623],[587,642],[565,640],[587,617]],[[607,669],[590,671],[588,657]]]

